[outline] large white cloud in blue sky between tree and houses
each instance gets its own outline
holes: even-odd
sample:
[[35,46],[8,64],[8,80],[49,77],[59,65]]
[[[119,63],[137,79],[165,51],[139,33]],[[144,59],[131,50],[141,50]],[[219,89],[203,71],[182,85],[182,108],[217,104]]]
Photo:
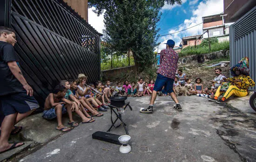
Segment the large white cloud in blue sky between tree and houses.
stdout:
[[[185,19],[183,24],[170,29],[168,33],[174,33],[195,26],[202,23],[202,17],[219,14],[221,12],[223,12],[223,0],[202,1],[198,6],[195,6],[195,9],[192,11],[192,17],[190,19]],[[178,46],[181,42],[181,34],[183,37],[202,34],[202,24],[190,28],[186,31],[175,33],[172,36],[160,37],[160,41],[166,43],[168,39],[173,39],[175,41],[175,46]],[[161,48],[165,48],[165,44],[162,45]],[[162,49],[159,48],[159,52],[161,50]]]

